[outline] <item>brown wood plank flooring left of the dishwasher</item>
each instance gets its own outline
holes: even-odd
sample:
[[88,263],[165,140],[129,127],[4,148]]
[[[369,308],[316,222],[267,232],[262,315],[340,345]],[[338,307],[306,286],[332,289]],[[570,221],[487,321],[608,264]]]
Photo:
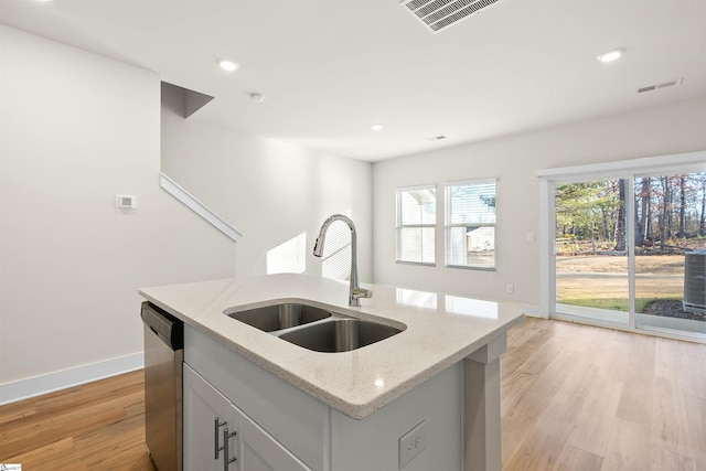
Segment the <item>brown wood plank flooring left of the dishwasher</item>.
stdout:
[[22,471],[156,471],[145,445],[143,372],[0,407],[0,463]]

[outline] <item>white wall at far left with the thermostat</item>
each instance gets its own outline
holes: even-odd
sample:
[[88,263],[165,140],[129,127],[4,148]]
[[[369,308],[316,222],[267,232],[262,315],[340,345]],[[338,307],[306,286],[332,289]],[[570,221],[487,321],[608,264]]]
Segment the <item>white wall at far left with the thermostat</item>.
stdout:
[[233,276],[235,244],[159,189],[159,76],[2,25],[0,71],[2,403],[139,367],[138,288]]

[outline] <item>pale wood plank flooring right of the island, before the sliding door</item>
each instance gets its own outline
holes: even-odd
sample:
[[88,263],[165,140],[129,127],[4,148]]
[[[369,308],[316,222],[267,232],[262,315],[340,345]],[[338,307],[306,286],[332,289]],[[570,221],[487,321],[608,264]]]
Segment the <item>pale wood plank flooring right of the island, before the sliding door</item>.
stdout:
[[507,343],[503,470],[706,470],[706,345],[539,319]]

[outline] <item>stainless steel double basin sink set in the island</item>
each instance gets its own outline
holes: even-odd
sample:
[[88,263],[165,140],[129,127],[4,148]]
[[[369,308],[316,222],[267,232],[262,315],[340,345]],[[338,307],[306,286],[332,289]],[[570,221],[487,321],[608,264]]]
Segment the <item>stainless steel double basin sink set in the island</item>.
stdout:
[[315,352],[349,352],[404,329],[352,318],[304,303],[279,303],[225,313],[240,322]]

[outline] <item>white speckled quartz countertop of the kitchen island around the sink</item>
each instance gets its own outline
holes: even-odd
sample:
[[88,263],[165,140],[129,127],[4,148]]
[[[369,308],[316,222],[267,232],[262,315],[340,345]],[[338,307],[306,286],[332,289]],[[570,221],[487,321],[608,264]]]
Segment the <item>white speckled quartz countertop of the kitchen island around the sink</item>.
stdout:
[[[145,288],[140,295],[260,367],[349,417],[362,419],[461,361],[524,319],[510,302],[460,298],[383,285],[360,308],[347,282],[306,275]],[[406,329],[352,352],[321,353],[291,344],[223,312],[307,301],[346,315]]]

